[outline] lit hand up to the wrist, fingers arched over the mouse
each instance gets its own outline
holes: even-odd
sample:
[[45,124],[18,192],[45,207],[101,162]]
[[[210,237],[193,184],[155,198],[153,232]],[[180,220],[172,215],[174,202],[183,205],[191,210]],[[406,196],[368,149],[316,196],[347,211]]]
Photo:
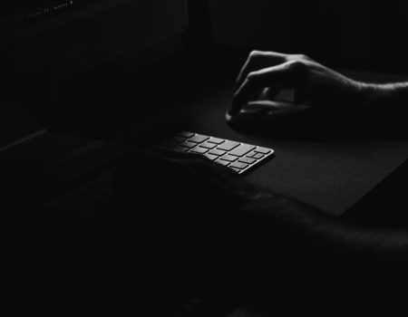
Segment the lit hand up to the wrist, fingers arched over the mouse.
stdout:
[[372,86],[356,82],[305,55],[273,52],[249,54],[238,76],[231,116],[254,97],[273,100],[283,89],[295,91],[296,104],[324,113],[355,111],[368,103]]

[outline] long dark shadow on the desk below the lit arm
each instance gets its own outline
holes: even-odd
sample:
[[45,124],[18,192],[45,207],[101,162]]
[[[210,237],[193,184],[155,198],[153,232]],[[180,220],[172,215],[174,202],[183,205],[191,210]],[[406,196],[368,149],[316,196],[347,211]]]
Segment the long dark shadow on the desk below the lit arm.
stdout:
[[248,135],[273,135],[274,139],[287,140],[408,139],[406,118],[385,113],[307,112],[277,118],[260,116],[230,126]]

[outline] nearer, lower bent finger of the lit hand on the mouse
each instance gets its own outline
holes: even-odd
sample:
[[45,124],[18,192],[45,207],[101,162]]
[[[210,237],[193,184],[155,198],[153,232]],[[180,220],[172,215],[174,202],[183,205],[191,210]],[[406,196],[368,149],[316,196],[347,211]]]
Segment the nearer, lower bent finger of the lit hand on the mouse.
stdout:
[[250,100],[251,96],[265,89],[265,87],[275,90],[294,88],[302,69],[302,62],[288,61],[257,72],[250,72],[235,93],[229,114],[237,114],[241,107]]

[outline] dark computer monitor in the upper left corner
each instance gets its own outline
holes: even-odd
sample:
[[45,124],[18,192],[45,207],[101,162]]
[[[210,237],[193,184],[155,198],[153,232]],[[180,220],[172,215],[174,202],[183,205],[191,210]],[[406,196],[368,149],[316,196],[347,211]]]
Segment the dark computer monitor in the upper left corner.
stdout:
[[4,0],[0,64],[58,68],[67,58],[138,55],[187,25],[186,0]]

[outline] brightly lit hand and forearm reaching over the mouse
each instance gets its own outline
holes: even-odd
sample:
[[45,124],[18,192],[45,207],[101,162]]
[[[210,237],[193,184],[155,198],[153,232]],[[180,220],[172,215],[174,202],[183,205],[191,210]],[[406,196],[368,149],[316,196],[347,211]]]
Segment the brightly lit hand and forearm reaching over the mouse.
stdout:
[[266,89],[270,99],[282,89],[294,89],[296,103],[327,113],[379,111],[396,119],[406,115],[408,108],[408,82],[358,82],[302,54],[254,51],[237,82],[231,115]]

